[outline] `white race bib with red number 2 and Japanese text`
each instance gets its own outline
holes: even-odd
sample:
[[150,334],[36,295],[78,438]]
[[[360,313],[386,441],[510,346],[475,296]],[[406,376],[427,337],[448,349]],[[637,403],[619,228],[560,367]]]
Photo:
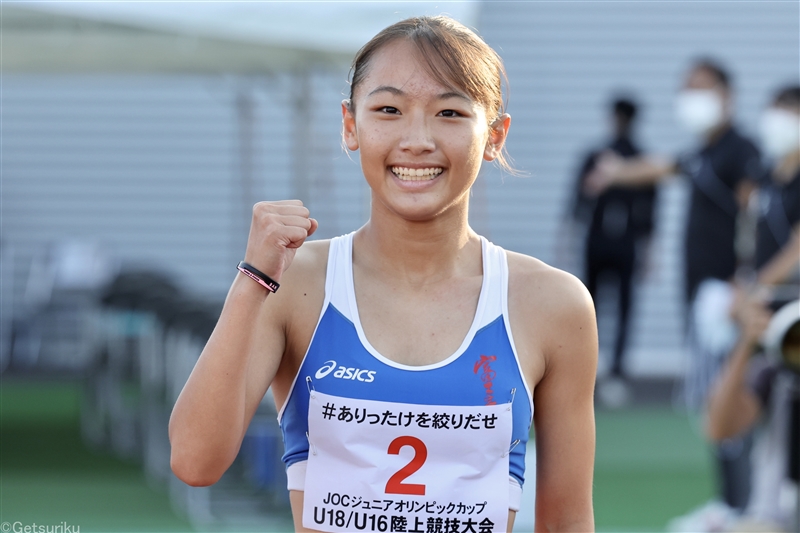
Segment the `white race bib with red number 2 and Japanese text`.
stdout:
[[312,391],[303,526],[505,533],[511,404],[378,402]]

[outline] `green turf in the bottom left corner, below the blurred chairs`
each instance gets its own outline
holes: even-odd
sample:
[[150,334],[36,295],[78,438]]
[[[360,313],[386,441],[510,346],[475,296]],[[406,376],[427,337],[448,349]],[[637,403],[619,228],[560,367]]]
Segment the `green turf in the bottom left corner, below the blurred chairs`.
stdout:
[[0,386],[0,521],[80,531],[192,531],[136,463],[89,451],[79,430],[80,387]]

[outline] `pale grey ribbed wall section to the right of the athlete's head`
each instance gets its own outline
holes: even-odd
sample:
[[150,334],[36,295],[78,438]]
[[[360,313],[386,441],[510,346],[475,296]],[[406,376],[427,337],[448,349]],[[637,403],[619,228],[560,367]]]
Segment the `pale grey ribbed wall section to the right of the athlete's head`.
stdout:
[[[748,134],[773,92],[798,83],[800,5],[792,2],[492,1],[482,3],[479,27],[505,61],[508,148],[531,174],[488,180],[491,237],[545,261],[555,259],[556,228],[579,159],[606,134],[612,93],[626,90],[640,102],[646,149],[676,154],[692,146],[673,119],[673,100],[693,58],[718,58],[733,73],[736,122]],[[656,268],[634,309],[635,372],[680,368],[687,192],[682,180],[662,186]],[[607,311],[601,306],[601,325]]]

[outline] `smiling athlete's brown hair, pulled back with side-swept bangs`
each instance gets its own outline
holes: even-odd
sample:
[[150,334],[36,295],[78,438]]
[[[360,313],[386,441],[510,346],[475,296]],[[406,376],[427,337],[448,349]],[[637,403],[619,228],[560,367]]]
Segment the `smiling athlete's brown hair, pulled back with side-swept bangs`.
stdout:
[[[462,90],[486,110],[489,122],[505,113],[503,84],[508,87],[503,60],[483,39],[449,17],[412,17],[384,28],[361,47],[350,68],[350,101],[364,80],[375,53],[396,40],[416,45],[430,75],[449,89]],[[503,151],[497,163],[514,172]]]

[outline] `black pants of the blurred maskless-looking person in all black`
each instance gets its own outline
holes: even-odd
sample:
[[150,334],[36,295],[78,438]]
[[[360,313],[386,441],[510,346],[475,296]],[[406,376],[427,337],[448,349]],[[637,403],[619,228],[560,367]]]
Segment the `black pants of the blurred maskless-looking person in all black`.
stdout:
[[614,360],[611,374],[623,375],[622,362],[628,342],[628,326],[632,299],[633,270],[636,263],[636,244],[621,239],[610,240],[589,235],[586,241],[586,288],[597,301],[597,288],[600,278],[614,275],[618,281],[618,320],[617,336],[614,342]]

